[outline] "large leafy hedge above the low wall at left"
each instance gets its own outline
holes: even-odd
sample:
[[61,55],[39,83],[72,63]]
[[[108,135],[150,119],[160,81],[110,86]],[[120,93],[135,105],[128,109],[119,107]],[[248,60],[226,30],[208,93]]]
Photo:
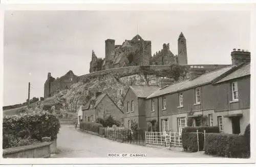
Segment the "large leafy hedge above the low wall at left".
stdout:
[[5,116],[3,118],[3,147],[12,147],[12,143],[16,140],[29,143],[34,140],[41,141],[42,137],[56,139],[59,128],[58,118],[48,112]]

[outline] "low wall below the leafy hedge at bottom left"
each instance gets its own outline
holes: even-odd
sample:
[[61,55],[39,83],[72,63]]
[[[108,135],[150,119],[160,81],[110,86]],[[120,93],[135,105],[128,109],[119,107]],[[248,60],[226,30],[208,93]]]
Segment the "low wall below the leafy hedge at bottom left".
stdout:
[[13,147],[3,150],[4,158],[50,158],[52,142],[41,142],[35,145]]

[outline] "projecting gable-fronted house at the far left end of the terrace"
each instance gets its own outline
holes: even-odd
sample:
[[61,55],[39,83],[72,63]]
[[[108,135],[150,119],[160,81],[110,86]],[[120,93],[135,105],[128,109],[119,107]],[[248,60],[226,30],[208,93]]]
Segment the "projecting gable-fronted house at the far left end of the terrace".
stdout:
[[129,86],[125,97],[123,107],[124,127],[131,129],[132,122],[138,124],[138,128],[146,130],[145,122],[145,99],[150,94],[158,90],[159,87],[150,86]]

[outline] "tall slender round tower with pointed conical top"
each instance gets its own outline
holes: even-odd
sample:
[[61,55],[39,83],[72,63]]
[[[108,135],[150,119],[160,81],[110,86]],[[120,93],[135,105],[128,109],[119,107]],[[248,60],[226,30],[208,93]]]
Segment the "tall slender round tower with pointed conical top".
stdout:
[[179,65],[187,65],[187,46],[186,46],[186,38],[183,33],[180,33],[178,38],[178,64]]

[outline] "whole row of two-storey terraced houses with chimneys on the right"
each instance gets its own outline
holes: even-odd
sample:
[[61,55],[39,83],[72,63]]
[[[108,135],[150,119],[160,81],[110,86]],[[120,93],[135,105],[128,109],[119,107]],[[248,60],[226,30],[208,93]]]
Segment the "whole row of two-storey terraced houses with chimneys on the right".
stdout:
[[243,133],[250,123],[250,52],[233,50],[232,65],[206,73],[190,66],[187,80],[160,87],[130,86],[124,126],[181,133],[185,126],[219,126]]

